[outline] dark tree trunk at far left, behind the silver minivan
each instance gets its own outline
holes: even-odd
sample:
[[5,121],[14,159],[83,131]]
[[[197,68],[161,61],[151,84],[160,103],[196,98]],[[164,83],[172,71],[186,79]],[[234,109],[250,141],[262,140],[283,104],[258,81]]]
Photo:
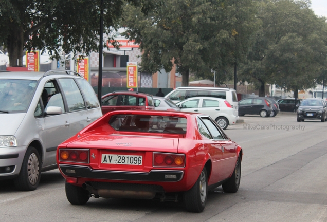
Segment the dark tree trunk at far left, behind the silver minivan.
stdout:
[[9,53],[10,66],[22,66],[22,57],[24,50],[24,31],[22,27],[12,26],[11,33],[7,39],[7,49]]

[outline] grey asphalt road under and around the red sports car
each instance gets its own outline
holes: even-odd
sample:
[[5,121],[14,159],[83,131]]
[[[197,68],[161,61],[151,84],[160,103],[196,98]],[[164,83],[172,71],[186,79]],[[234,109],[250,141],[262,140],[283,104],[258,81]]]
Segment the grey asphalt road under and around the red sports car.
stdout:
[[0,181],[4,221],[327,221],[327,122],[297,122],[293,113],[244,116],[226,133],[244,151],[240,189],[209,192],[202,213],[181,202],[91,198],[70,205],[58,170],[42,173],[40,187],[17,192]]

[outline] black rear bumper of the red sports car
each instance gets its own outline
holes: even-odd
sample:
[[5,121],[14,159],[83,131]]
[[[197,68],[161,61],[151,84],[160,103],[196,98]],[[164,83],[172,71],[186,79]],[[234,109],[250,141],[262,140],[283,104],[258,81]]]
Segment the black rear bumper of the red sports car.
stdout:
[[151,170],[148,173],[141,173],[129,171],[93,170],[90,167],[64,164],[60,164],[59,168],[61,172],[68,177],[83,177],[90,179],[178,182],[183,179],[184,176],[184,171],[178,170]]

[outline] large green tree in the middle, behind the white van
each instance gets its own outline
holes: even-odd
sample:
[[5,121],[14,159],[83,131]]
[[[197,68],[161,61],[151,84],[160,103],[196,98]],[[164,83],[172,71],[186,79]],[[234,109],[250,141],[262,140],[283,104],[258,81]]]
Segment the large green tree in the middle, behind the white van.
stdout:
[[122,26],[140,44],[142,70],[170,71],[175,64],[188,86],[190,73],[213,79],[213,71],[226,73],[245,57],[257,28],[255,9],[252,0],[166,0],[147,16],[126,6]]

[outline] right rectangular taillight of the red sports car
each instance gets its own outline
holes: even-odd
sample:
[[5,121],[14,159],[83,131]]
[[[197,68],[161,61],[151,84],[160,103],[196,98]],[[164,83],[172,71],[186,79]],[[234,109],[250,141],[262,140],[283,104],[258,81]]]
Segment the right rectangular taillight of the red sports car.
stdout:
[[153,153],[153,167],[185,167],[185,155]]

